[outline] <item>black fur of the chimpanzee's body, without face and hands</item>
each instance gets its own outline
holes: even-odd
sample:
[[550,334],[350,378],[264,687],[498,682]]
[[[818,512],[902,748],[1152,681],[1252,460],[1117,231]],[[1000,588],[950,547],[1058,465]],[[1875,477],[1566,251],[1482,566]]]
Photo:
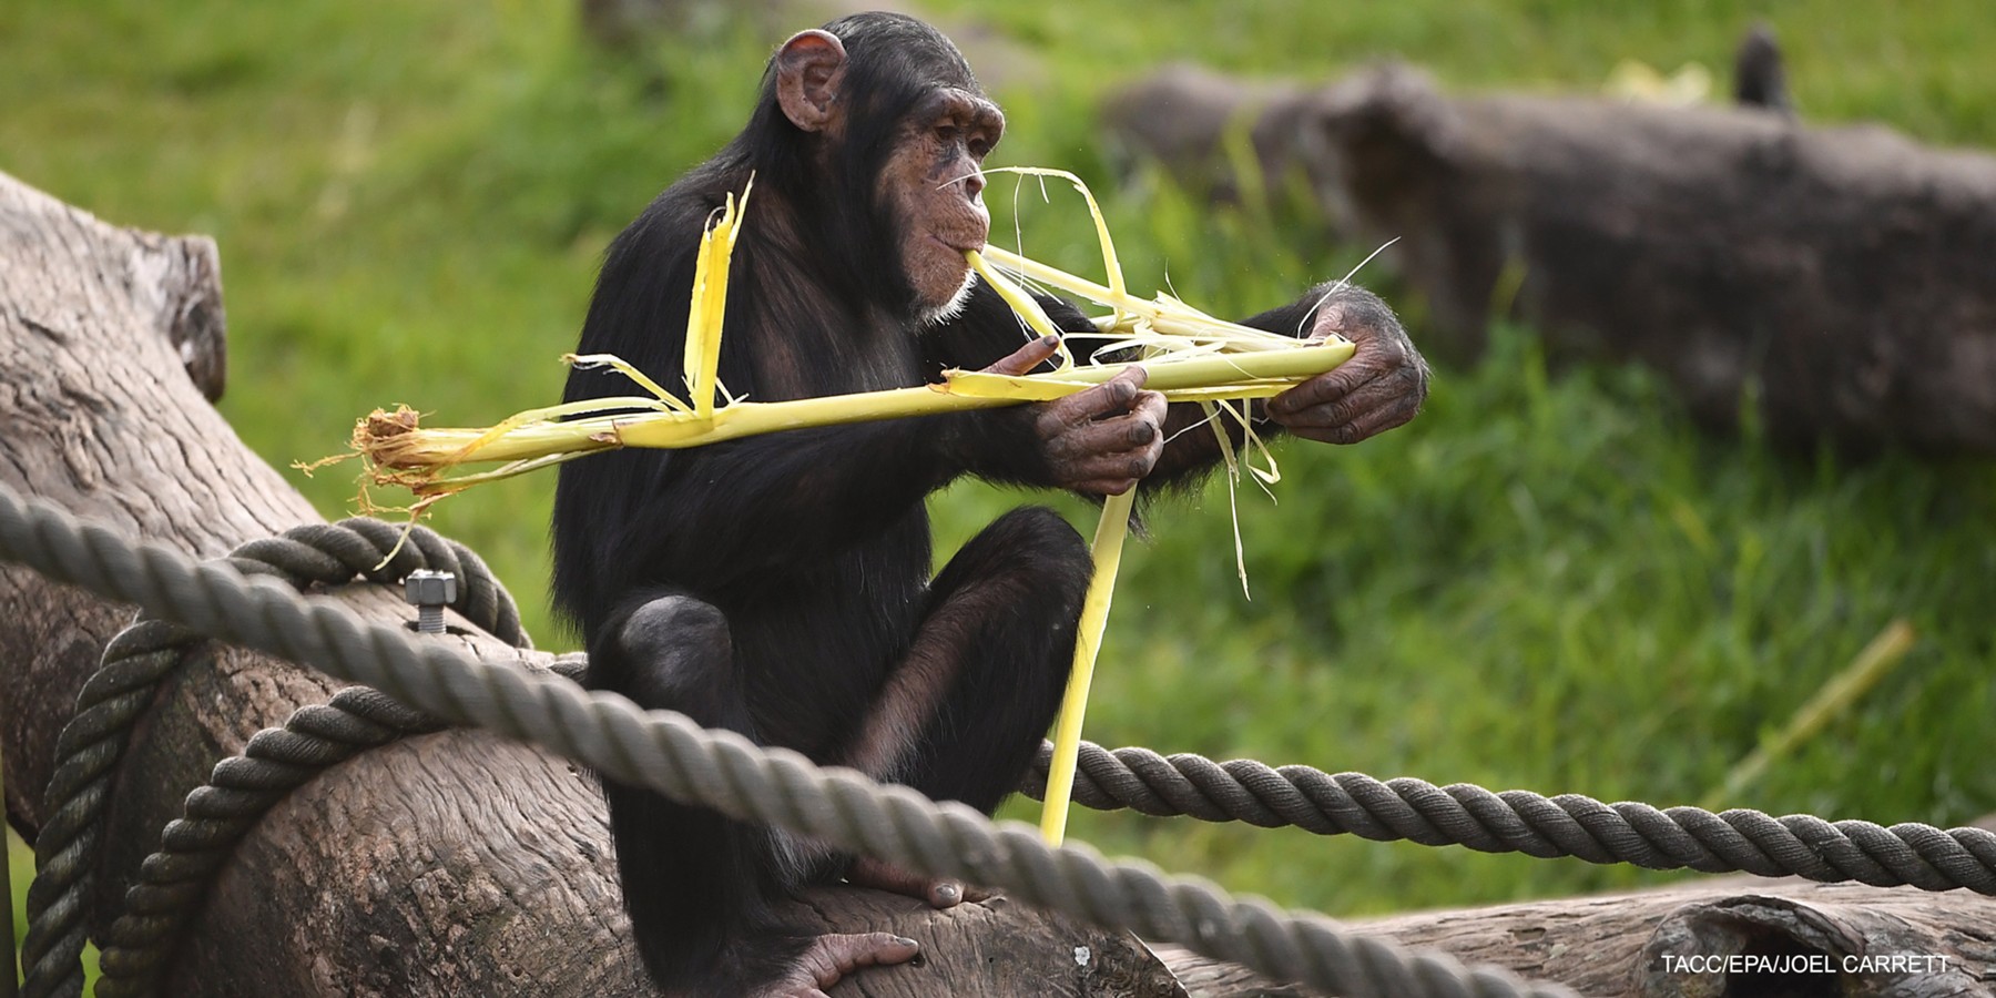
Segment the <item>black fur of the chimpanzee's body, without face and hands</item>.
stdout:
[[[772,70],[743,134],[611,244],[581,353],[683,383],[693,253],[750,174],[721,353],[735,395],[918,385],[1028,339],[982,285],[958,317],[922,329],[894,220],[874,198],[900,120],[930,88],[976,90],[970,68],[910,18],[860,14],[826,30],[848,54],[844,144],[818,158],[824,140],[784,118]],[[1086,321],[1046,303],[1068,327]],[[1305,307],[1257,323],[1293,325]],[[565,397],[631,391],[621,375],[575,371]],[[880,778],[990,812],[1058,709],[1090,561],[1060,517],[1022,509],[930,581],[922,501],[966,473],[1046,485],[1030,419],[986,409],[563,465],[553,589],[589,643],[589,683],[820,762],[872,758]],[[1210,433],[1186,437],[1156,477],[1212,463]],[[934,695],[868,727],[898,703],[892,679],[908,663],[934,671]],[[840,856],[645,790],[605,790],[639,952],[663,986],[745,994],[794,962],[808,938],[770,904],[838,876]]]

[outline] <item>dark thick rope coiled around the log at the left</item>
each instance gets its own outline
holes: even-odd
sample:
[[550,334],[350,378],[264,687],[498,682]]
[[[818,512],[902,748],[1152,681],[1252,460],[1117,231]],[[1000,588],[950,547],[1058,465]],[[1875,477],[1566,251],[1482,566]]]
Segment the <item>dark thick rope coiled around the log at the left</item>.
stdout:
[[[513,605],[513,597],[497,583],[491,569],[469,547],[449,541],[427,527],[405,531],[405,527],[363,517],[341,523],[313,523],[293,527],[279,537],[250,541],[232,551],[228,563],[246,575],[265,573],[281,577],[297,589],[309,585],[343,585],[353,577],[391,583],[415,569],[451,571],[463,583],[457,587],[459,595],[453,609],[515,647],[527,643],[527,635],[519,625],[519,609]],[[100,824],[110,804],[112,774],[126,752],[132,725],[152,705],[160,683],[180,667],[188,653],[204,643],[206,637],[200,633],[164,621],[142,619],[106,645],[104,665],[84,683],[76,715],[56,741],[58,762],[44,794],[50,818],[42,834],[36,836],[36,866],[40,872],[28,890],[30,922],[22,944],[22,994],[26,998],[82,994],[80,958],[88,932],[88,904],[96,890],[94,880],[98,856],[102,854]],[[395,737],[385,735],[367,745],[357,741],[369,737],[371,729],[409,725],[399,729],[405,733],[439,727],[369,691],[341,691],[329,707],[333,707],[337,717],[327,717],[325,709],[305,709],[299,715],[313,713],[303,719],[293,715],[293,721],[303,725],[299,733],[293,733],[293,739],[263,739],[281,735],[265,731],[259,735],[263,743],[257,745],[251,739],[251,747],[259,752],[277,752],[269,756],[273,764],[283,764],[285,754],[297,758],[301,745],[295,739],[317,731],[329,735],[333,739],[331,745],[351,747],[345,754],[337,756],[327,752],[325,745],[315,747],[315,756],[325,758],[325,762],[305,770],[297,770],[295,764],[291,766],[297,782],[303,782],[317,768],[333,764],[367,745],[379,745]],[[259,766],[244,758],[224,760],[216,772],[218,776],[234,776],[238,782],[244,778],[271,782],[269,764]],[[218,780],[212,778],[210,782],[216,784]],[[210,820],[222,820],[222,814],[214,814],[216,794],[206,794],[202,800],[196,800],[196,796],[202,796],[202,790],[196,790],[188,800],[190,818],[200,814]],[[236,828],[234,836],[240,838],[281,796],[281,790],[263,792],[261,796],[226,796],[230,802],[228,818]],[[196,808],[202,810],[198,812]],[[220,832],[212,824],[200,826],[194,834],[186,828],[176,828],[178,824],[182,822],[168,826],[166,848],[192,846],[188,850],[198,858],[162,862],[164,870],[180,874],[180,904],[190,906],[200,896],[206,872],[222,864],[228,856],[226,846],[234,838],[228,838],[228,842],[214,838]],[[154,860],[160,860],[160,856],[148,858],[142,870],[158,876],[162,864]],[[192,880],[198,870],[202,872],[202,880]],[[150,880],[142,880],[142,886],[148,884]],[[142,902],[158,908],[158,890],[150,890]],[[132,900],[128,898],[128,908]],[[124,926],[124,918],[114,928],[126,928],[128,936],[146,938],[138,926]],[[148,928],[158,932],[156,924]],[[122,936],[114,932],[106,938],[106,946],[110,946],[112,938]],[[106,948],[104,956],[106,966],[132,962],[130,956],[122,952],[114,954],[110,948]],[[140,966],[156,962],[158,956],[140,958]],[[114,978],[110,970],[106,976]]]

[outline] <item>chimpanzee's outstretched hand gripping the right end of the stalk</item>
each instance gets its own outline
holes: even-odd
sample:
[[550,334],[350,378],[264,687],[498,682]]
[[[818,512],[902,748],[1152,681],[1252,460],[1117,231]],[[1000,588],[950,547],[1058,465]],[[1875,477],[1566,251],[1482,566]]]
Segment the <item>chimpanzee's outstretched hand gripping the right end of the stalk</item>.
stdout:
[[1427,399],[1427,361],[1393,309],[1363,287],[1341,287],[1317,307],[1311,339],[1343,333],[1351,359],[1267,399],[1267,417],[1297,437],[1357,443],[1393,429]]

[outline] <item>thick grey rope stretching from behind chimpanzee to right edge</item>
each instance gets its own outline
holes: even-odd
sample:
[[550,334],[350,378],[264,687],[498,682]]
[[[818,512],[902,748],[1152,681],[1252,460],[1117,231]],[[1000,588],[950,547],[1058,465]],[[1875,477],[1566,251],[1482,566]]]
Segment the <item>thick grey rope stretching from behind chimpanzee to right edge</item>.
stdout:
[[[1040,748],[1024,786],[1046,788],[1048,748]],[[1357,834],[1377,842],[1467,846],[1587,862],[1629,862],[1651,870],[1750,872],[1856,880],[1922,890],[1968,888],[1996,894],[1996,832],[1904,822],[1826,822],[1812,814],[1780,818],[1733,808],[1603,804],[1591,796],[1491,792],[1457,782],[1435,786],[1409,776],[1379,782],[1359,772],[1327,774],[1309,766],[1269,768],[1236,758],[1162,756],[1150,748],[1082,745],[1074,780],[1080,804],[1132,808],[1152,816],[1244,820],[1263,828],[1293,824],[1317,834]]]

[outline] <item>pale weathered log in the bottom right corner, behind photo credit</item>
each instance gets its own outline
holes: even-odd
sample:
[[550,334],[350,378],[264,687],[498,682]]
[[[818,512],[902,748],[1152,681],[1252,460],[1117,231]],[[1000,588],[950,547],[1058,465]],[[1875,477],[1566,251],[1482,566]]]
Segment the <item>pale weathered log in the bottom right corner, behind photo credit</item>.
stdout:
[[[1359,928],[1601,998],[1992,994],[1996,900],[1804,880],[1701,880],[1449,912]],[[1160,946],[1194,998],[1309,998],[1232,964]],[[1727,958],[1739,958],[1727,966]],[[1693,960],[1685,960],[1693,958]],[[1788,960],[1758,964],[1758,958]],[[1816,972],[1822,970],[1822,972]]]

